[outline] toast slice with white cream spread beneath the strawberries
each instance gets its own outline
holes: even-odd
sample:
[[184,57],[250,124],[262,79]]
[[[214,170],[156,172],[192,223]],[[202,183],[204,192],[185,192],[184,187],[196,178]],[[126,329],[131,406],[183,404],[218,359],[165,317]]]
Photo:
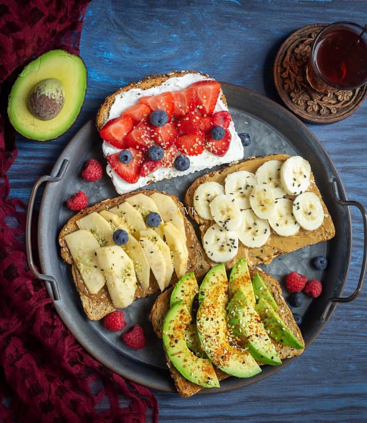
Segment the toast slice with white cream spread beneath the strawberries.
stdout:
[[[142,97],[180,91],[187,89],[195,82],[203,80],[213,80],[213,78],[196,71],[177,71],[146,76],[141,81],[130,83],[104,100],[96,116],[97,129],[100,130],[107,121],[121,116],[127,109],[136,105]],[[218,111],[228,111],[227,100],[223,91],[220,91],[217,100],[215,112]],[[186,170],[178,171],[174,166],[159,167],[146,176],[140,176],[134,184],[128,183],[121,178],[110,164],[107,165],[107,174],[111,177],[116,191],[123,194],[144,187],[154,181],[182,176],[241,160],[244,152],[243,146],[232,121],[229,124],[228,131],[231,134],[231,142],[228,151],[223,156],[212,154],[207,149],[204,149],[201,154],[190,156],[190,167]],[[121,149],[112,146],[107,141],[103,141],[102,151],[103,155],[108,157],[121,151]]]

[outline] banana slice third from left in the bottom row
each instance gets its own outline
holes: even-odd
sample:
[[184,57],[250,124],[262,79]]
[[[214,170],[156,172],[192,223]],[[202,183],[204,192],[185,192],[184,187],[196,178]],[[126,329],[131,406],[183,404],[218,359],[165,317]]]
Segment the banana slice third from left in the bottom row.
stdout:
[[274,204],[274,216],[269,218],[272,229],[281,236],[292,236],[299,231],[300,225],[293,215],[293,202],[279,198]]

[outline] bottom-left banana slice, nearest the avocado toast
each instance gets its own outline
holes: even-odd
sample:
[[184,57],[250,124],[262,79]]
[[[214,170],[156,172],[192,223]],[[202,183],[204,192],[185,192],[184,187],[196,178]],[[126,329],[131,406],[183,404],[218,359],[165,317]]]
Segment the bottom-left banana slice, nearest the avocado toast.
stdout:
[[219,225],[209,227],[203,236],[206,255],[217,263],[231,260],[238,251],[238,236],[234,231],[227,231]]

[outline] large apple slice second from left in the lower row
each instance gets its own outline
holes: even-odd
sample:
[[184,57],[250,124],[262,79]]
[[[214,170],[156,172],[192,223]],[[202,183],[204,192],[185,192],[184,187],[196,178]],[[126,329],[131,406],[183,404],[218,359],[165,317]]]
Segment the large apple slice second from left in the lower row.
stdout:
[[133,260],[118,245],[98,248],[96,254],[113,305],[116,308],[127,307],[134,301],[137,288]]

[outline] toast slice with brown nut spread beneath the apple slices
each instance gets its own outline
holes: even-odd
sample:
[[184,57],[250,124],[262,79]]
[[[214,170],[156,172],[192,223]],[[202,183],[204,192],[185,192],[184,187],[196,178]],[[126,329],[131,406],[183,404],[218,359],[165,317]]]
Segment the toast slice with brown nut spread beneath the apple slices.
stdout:
[[[69,234],[78,230],[79,228],[76,225],[76,221],[83,218],[84,216],[89,215],[90,213],[93,213],[93,211],[99,212],[101,210],[108,210],[122,203],[126,198],[131,197],[137,193],[150,196],[155,192],[158,192],[158,191],[156,190],[149,190],[149,191],[142,190],[138,192],[135,191],[132,193],[121,195],[119,197],[110,198],[110,199],[101,201],[74,215],[71,219],[69,219],[69,221],[62,228],[59,234],[59,245],[61,247],[61,256],[69,265],[72,265],[71,272],[72,272],[73,280],[75,283],[75,287],[81,297],[84,311],[86,312],[90,320],[102,319],[105,315],[114,311],[115,307],[112,304],[106,285],[104,285],[97,294],[91,295],[90,293],[88,293],[88,290],[86,288],[86,285],[83,282],[81,274],[79,273],[78,269],[74,265],[73,258],[67,247],[64,236],[66,234]],[[177,207],[179,207],[179,209],[182,209],[181,208],[183,207],[182,203],[180,203],[175,196],[166,194],[166,193],[164,194],[170,196],[174,200],[174,202],[177,204]],[[192,227],[191,223],[188,221],[188,219],[185,216],[183,216],[183,221],[185,224],[187,247],[189,251],[189,259],[188,259],[188,265],[187,265],[186,271],[194,272],[197,277],[200,277],[209,270],[209,265],[206,260],[205,253],[202,250],[200,243],[198,242],[194,228]],[[170,284],[174,284],[176,281],[177,281],[177,276],[175,273],[173,273]],[[153,294],[155,292],[159,292],[159,290],[160,288],[158,286],[158,283],[156,282],[154,276],[152,275],[152,272],[150,272],[150,280],[149,280],[148,289],[143,290],[140,286],[138,286],[135,292],[134,299],[146,297],[147,295]]]

